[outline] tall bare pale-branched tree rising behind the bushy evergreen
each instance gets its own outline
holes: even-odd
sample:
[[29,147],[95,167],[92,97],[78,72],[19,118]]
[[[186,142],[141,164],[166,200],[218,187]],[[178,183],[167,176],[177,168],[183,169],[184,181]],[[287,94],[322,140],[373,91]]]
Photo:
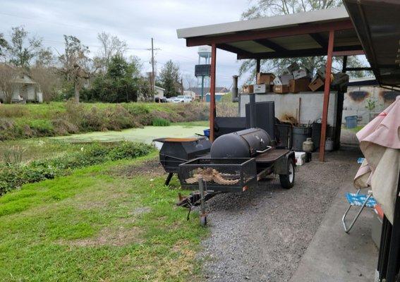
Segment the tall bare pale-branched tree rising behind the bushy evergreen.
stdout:
[[95,58],[97,64],[101,66],[104,73],[107,72],[107,68],[113,56],[123,56],[126,51],[126,42],[119,39],[115,35],[111,35],[107,32],[102,32],[97,35],[101,47],[99,49],[99,56]]

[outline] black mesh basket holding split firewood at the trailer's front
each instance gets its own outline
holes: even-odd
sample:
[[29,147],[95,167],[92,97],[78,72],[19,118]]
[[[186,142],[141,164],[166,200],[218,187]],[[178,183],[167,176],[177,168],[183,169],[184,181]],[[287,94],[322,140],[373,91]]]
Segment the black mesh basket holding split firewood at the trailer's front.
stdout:
[[243,191],[257,183],[255,159],[198,158],[179,165],[179,180],[183,188],[198,189],[204,180],[207,190]]

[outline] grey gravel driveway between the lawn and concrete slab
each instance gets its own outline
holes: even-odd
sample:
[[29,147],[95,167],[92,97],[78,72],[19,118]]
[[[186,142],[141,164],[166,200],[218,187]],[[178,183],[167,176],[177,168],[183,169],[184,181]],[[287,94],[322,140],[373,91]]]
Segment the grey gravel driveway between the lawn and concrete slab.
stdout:
[[210,238],[203,242],[206,281],[289,281],[340,185],[352,181],[357,152],[327,154],[299,166],[296,183],[264,180],[246,193],[207,202]]

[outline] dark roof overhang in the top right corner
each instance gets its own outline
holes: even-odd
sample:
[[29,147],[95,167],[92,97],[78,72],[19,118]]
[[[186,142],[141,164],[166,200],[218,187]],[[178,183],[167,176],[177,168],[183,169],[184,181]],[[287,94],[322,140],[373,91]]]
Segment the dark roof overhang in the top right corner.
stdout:
[[344,0],[380,85],[400,87],[399,0]]

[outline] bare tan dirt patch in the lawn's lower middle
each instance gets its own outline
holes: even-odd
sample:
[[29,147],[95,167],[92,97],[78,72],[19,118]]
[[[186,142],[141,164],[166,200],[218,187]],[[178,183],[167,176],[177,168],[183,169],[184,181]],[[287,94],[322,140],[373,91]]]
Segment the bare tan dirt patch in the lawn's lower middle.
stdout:
[[103,228],[95,238],[62,240],[59,243],[77,247],[124,246],[132,243],[143,243],[140,234],[139,228],[119,226],[117,229]]

